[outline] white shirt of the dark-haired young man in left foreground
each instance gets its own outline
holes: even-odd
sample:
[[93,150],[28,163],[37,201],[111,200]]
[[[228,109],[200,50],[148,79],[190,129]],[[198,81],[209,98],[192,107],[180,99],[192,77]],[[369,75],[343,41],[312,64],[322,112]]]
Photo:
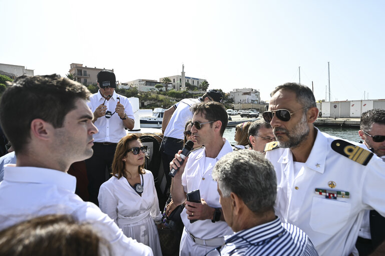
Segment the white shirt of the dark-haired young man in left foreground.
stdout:
[[75,187],[76,178],[66,172],[7,165],[0,183],[0,230],[37,216],[71,214],[106,238],[113,255],[153,255],[148,246],[125,236],[98,206],[76,195]]

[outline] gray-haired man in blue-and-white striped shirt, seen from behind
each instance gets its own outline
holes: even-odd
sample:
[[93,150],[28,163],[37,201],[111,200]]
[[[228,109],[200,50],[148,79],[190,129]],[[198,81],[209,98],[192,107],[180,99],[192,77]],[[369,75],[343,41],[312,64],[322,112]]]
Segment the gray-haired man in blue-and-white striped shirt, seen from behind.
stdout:
[[235,233],[207,255],[318,255],[301,229],[275,215],[277,179],[263,154],[228,153],[215,164],[212,177],[224,218]]

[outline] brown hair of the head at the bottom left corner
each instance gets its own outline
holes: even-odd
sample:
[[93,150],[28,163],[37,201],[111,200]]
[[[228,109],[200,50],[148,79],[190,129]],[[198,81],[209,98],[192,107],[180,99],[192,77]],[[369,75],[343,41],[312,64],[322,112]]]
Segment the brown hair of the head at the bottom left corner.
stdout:
[[112,255],[111,246],[87,222],[72,215],[32,218],[0,231],[0,255]]

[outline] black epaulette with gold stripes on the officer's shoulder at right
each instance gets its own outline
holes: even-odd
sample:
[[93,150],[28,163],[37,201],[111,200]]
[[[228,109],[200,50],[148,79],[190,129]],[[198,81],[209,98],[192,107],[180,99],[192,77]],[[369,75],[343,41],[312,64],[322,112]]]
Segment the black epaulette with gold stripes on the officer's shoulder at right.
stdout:
[[360,146],[354,145],[342,139],[333,140],[333,142],[331,142],[331,148],[333,148],[333,150],[337,153],[340,153],[362,165],[366,165],[373,156],[373,153],[369,150],[363,149]]

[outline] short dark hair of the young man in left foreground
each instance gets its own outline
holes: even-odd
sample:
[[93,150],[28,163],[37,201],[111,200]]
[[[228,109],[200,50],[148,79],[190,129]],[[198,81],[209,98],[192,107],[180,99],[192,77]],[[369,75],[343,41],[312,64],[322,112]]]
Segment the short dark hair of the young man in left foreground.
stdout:
[[30,140],[31,122],[41,118],[54,128],[63,127],[67,113],[78,98],[88,100],[91,92],[83,84],[57,74],[16,79],[4,92],[0,122],[15,148],[23,151]]

